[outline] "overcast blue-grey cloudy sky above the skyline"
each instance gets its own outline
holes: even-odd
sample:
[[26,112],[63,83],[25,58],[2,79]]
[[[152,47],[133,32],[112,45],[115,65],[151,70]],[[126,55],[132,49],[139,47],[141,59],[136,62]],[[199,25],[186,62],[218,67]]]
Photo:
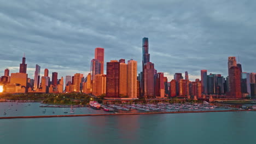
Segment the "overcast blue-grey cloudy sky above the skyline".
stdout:
[[[243,71],[256,72],[256,1],[30,1],[0,0],[0,75],[27,73],[35,65],[60,76],[87,74],[95,47],[106,62],[138,61],[149,38],[150,61],[168,81],[174,73],[200,70],[227,75],[229,56],[240,56]],[[237,58],[238,59],[238,58]]]

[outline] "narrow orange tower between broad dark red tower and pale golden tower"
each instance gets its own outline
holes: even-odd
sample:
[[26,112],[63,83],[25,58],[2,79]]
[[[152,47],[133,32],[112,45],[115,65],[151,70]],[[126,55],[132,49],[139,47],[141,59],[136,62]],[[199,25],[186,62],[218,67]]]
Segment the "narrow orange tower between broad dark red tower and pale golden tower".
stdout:
[[[120,62],[120,60],[119,60]],[[120,85],[119,85],[119,94],[121,96],[127,96],[127,64],[124,62],[120,63],[119,66],[119,75],[120,75]]]

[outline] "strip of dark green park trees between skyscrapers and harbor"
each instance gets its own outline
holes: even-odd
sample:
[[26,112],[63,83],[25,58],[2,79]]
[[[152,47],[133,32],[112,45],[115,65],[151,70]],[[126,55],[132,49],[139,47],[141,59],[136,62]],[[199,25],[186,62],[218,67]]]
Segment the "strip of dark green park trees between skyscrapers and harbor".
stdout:
[[[84,93],[21,93],[21,94],[0,94],[0,98],[7,100],[34,100],[42,101],[44,104],[56,104],[56,105],[88,105],[90,100],[98,101],[98,103],[108,104],[104,102],[106,94],[102,94],[98,97],[92,97],[91,95]],[[167,100],[146,100],[145,98],[139,98],[135,100],[116,100],[111,101],[112,104],[156,104],[156,103],[202,103],[201,100],[193,99],[178,99],[172,98]]]

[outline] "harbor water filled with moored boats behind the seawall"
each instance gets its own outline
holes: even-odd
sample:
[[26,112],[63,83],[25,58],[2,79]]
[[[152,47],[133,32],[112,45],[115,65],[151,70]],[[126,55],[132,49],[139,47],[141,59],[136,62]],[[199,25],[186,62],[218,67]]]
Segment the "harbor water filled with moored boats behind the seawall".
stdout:
[[[244,111],[248,107],[242,106],[215,106],[210,104],[110,104],[100,105],[95,103],[97,108],[93,106],[59,106],[59,105],[44,105],[41,103],[16,103],[5,102],[0,103],[0,117],[33,117],[47,116],[57,117],[62,115],[86,116],[86,115],[105,115],[105,114],[122,114],[122,113],[189,113],[189,112],[209,112],[209,111]],[[255,106],[252,107],[255,109]],[[248,109],[251,110],[251,109]]]

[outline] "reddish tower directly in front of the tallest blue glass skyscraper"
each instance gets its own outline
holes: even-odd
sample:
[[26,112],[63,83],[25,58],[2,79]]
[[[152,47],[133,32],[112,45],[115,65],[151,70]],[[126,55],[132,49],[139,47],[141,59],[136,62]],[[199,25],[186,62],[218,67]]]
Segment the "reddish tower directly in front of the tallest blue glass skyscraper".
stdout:
[[144,98],[154,98],[154,64],[147,62],[144,67]]

